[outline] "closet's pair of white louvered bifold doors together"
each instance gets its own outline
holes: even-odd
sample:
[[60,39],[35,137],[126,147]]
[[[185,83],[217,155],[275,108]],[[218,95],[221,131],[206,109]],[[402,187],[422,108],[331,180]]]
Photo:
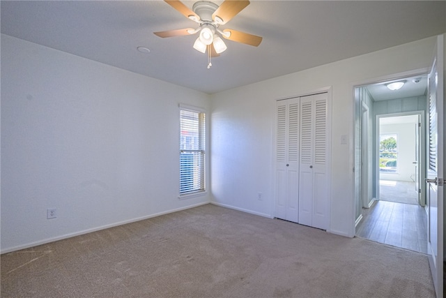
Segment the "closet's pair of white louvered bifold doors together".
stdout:
[[328,93],[277,100],[275,217],[328,228]]

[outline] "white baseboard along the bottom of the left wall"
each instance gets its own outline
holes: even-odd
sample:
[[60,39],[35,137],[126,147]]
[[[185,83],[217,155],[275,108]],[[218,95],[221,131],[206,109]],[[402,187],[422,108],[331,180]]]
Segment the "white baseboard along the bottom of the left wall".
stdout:
[[51,237],[51,238],[47,238],[47,239],[31,242],[29,244],[13,246],[13,247],[10,247],[10,248],[3,249],[0,252],[0,254],[10,253],[12,251],[20,251],[20,249],[30,248],[30,247],[33,247],[33,246],[47,244],[47,243],[54,242],[54,241],[68,239],[68,238],[76,237],[76,236],[79,236],[79,235],[82,235],[82,234],[89,234],[91,232],[96,232],[96,231],[105,230],[105,229],[108,229],[108,228],[117,227],[118,225],[125,225],[126,223],[134,223],[136,221],[144,221],[144,219],[153,218],[153,217],[161,216],[161,215],[164,215],[164,214],[174,213],[174,212],[177,212],[177,211],[183,211],[183,210],[186,210],[186,209],[199,207],[199,206],[205,205],[205,204],[209,204],[209,202],[201,202],[201,203],[193,204],[193,205],[190,205],[190,206],[187,206],[187,207],[181,207],[181,208],[177,208],[177,209],[171,209],[169,211],[159,212],[157,214],[151,214],[151,215],[148,215],[148,216],[141,216],[141,217],[138,217],[138,218],[132,218],[132,219],[130,219],[128,221],[119,221],[118,223],[112,223],[112,224],[109,224],[109,225],[102,225],[102,226],[100,226],[98,228],[91,228],[91,229],[88,229],[88,230],[82,230],[82,231],[79,231],[79,232],[74,232],[74,233],[70,233],[70,234],[64,234],[64,235],[61,235],[61,236],[58,236],[58,237]]

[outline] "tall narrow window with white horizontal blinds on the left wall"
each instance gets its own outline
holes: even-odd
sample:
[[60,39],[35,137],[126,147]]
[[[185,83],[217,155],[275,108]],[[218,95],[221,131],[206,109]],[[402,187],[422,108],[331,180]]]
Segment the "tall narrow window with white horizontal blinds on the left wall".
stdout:
[[205,191],[205,114],[180,106],[180,195]]

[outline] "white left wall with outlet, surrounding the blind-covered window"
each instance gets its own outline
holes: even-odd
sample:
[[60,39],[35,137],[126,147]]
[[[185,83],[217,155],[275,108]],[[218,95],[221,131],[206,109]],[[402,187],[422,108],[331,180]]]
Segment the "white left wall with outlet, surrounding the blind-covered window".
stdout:
[[207,94],[3,34],[1,87],[2,253],[210,201],[178,200],[178,103]]

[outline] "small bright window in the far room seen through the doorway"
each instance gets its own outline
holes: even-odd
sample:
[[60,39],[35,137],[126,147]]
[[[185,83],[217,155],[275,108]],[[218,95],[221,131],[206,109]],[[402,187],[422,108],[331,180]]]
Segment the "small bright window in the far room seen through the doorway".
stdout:
[[397,135],[380,135],[379,171],[396,173],[398,161]]

